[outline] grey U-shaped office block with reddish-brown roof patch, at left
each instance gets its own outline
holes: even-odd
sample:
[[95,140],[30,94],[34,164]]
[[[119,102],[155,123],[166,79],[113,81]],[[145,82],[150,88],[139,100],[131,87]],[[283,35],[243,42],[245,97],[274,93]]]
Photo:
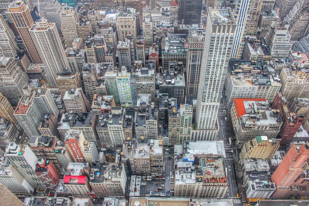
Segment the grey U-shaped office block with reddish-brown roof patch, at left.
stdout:
[[14,116],[28,137],[39,136],[39,123],[43,114],[53,114],[58,117],[59,111],[53,100],[50,89],[23,87],[22,96]]

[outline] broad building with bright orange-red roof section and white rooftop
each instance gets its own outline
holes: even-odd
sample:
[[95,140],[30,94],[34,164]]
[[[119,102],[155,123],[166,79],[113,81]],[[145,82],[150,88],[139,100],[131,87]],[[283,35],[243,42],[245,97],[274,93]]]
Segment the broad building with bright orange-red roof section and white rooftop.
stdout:
[[237,143],[243,145],[256,136],[275,138],[282,119],[279,112],[271,110],[265,99],[234,99],[231,117]]

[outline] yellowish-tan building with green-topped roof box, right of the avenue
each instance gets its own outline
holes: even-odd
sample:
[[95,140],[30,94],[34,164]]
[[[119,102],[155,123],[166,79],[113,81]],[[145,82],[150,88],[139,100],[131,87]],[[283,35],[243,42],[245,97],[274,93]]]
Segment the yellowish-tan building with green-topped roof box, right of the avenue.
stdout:
[[240,159],[267,159],[270,161],[280,144],[278,140],[269,139],[267,136],[257,136],[244,143]]

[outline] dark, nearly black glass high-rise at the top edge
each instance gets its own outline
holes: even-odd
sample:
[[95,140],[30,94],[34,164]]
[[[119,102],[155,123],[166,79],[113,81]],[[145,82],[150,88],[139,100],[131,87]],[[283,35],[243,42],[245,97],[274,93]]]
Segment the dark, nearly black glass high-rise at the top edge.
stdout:
[[179,0],[179,24],[200,24],[202,0]]

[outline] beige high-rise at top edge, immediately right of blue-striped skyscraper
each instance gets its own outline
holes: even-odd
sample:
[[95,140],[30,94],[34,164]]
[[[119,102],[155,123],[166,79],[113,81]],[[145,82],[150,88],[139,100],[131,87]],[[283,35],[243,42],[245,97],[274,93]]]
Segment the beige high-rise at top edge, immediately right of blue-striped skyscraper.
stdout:
[[255,35],[257,33],[262,5],[263,0],[251,0],[248,10],[250,13],[250,18],[246,25],[246,34]]

